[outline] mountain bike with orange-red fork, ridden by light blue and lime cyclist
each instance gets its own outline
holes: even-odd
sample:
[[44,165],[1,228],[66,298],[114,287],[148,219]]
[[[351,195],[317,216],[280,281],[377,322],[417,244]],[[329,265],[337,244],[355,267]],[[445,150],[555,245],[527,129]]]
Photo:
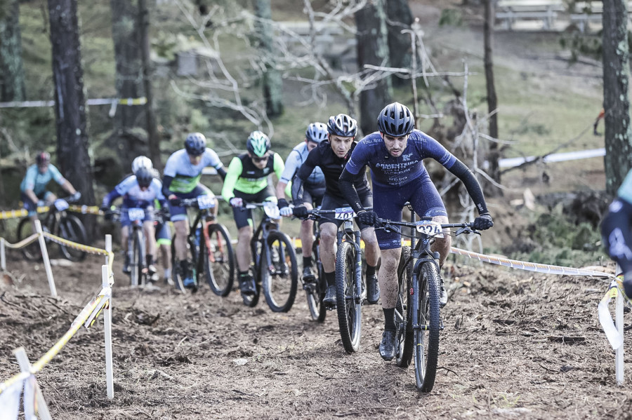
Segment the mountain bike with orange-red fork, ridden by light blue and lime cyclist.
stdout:
[[[187,215],[189,233],[187,246],[192,257],[193,278],[204,273],[206,283],[218,296],[228,296],[235,281],[235,252],[232,250],[228,230],[216,221],[211,209],[215,208],[215,197],[202,194],[196,198],[183,198],[180,205],[196,208],[195,217]],[[183,278],[178,274],[179,262],[176,257],[176,234],[171,241],[171,266],[173,283],[184,291]],[[193,292],[197,291],[197,286]]]

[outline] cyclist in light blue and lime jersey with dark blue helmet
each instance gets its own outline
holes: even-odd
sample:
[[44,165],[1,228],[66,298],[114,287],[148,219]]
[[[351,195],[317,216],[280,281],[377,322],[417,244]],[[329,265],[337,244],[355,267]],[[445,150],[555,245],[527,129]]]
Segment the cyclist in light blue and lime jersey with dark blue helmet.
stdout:
[[[197,280],[193,278],[191,262],[187,259],[187,209],[180,206],[182,198],[194,198],[203,194],[213,194],[210,189],[199,182],[202,170],[207,166],[215,168],[218,175],[224,179],[226,171],[219,157],[209,147],[206,147],[206,137],[202,133],[190,133],[185,140],[185,148],[173,152],[167,159],[162,179],[162,193],[169,200],[171,222],[176,229],[176,258],[178,270],[182,276],[183,285],[197,289]],[[213,212],[217,215],[216,200]]]

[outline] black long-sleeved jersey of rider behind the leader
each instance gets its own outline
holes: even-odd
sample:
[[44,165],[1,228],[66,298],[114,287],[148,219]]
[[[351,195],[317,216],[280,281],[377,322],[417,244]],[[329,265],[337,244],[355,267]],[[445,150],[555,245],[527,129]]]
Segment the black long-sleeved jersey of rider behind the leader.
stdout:
[[[338,188],[338,179],[345,168],[345,163],[349,160],[351,152],[357,146],[357,142],[351,143],[351,148],[344,158],[339,158],[334,150],[331,149],[329,142],[322,141],[315,149],[308,154],[305,163],[298,168],[296,177],[292,184],[292,200],[294,205],[301,205],[303,201],[303,182],[305,182],[315,168],[322,170],[325,179],[325,194],[336,198],[344,198],[341,190]],[[370,191],[369,180],[365,173],[359,174],[353,183],[358,194],[366,194]]]

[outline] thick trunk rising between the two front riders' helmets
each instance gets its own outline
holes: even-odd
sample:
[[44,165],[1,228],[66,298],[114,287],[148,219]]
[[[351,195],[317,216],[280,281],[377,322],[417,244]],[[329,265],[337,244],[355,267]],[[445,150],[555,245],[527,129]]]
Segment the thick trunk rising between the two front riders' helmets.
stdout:
[[[388,66],[388,31],[383,0],[371,1],[355,13],[357,28],[357,65]],[[374,88],[360,93],[360,129],[364,135],[377,130],[376,118],[383,107],[391,102],[390,78],[381,79]]]

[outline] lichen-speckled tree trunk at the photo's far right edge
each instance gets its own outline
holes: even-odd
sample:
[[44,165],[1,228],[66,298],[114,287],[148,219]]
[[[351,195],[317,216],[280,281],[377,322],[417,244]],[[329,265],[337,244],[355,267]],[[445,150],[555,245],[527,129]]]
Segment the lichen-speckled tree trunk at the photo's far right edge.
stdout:
[[603,1],[603,109],[606,190],[615,194],[632,166],[626,0]]

